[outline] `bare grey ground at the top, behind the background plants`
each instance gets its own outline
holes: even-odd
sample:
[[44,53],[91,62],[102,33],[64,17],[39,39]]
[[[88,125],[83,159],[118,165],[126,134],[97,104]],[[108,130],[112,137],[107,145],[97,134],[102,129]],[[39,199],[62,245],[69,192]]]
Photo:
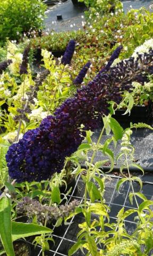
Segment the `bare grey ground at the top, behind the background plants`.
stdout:
[[[124,11],[128,11],[130,7],[134,9],[139,9],[142,6],[145,6],[149,9],[150,4],[153,3],[152,0],[132,0],[132,1],[122,1]],[[65,3],[58,3],[57,5],[50,7],[47,10],[45,19],[46,31],[55,30],[60,31],[70,31],[78,30],[82,28],[82,21],[84,21],[84,11],[85,7],[74,6],[71,0],[68,0]],[[57,21],[56,15],[62,14],[62,20]]]

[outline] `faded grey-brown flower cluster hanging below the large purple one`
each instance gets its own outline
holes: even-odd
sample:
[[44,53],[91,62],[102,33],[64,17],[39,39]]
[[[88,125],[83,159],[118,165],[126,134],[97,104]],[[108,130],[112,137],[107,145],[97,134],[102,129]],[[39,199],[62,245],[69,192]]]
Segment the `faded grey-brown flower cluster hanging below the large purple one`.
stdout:
[[35,199],[23,197],[22,202],[16,206],[16,210],[20,215],[28,215],[29,218],[37,216],[37,220],[41,223],[45,221],[57,220],[69,216],[71,212],[80,204],[77,199],[74,199],[69,204],[61,206],[42,205]]

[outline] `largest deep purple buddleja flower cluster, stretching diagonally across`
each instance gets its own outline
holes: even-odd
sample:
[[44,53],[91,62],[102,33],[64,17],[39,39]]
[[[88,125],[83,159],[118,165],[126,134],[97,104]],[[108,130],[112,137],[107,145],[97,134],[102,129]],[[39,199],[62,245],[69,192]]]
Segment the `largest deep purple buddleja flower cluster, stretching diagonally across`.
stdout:
[[[71,99],[57,108],[37,129],[23,135],[7,151],[6,161],[11,178],[16,181],[40,181],[60,172],[66,156],[74,153],[86,130],[93,131],[108,114],[109,101],[120,103],[123,90],[129,90],[135,77],[153,66],[153,51],[138,58],[121,61],[107,73],[78,89]],[[81,128],[83,124],[83,129]]]

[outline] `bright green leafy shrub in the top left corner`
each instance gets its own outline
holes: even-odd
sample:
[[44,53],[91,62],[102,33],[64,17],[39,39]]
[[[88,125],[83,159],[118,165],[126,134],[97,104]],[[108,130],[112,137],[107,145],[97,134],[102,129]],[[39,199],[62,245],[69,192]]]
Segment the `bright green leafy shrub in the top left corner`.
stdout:
[[46,5],[41,0],[3,0],[0,5],[0,44],[6,38],[19,39],[23,33],[43,28]]

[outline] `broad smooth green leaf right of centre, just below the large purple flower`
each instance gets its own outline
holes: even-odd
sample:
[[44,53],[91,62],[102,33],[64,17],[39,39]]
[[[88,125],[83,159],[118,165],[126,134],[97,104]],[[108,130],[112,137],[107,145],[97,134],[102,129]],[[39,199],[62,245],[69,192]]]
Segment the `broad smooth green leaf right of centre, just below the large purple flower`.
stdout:
[[109,125],[111,126],[112,132],[114,134],[115,140],[122,139],[123,136],[123,128],[121,125],[113,118],[109,118]]

